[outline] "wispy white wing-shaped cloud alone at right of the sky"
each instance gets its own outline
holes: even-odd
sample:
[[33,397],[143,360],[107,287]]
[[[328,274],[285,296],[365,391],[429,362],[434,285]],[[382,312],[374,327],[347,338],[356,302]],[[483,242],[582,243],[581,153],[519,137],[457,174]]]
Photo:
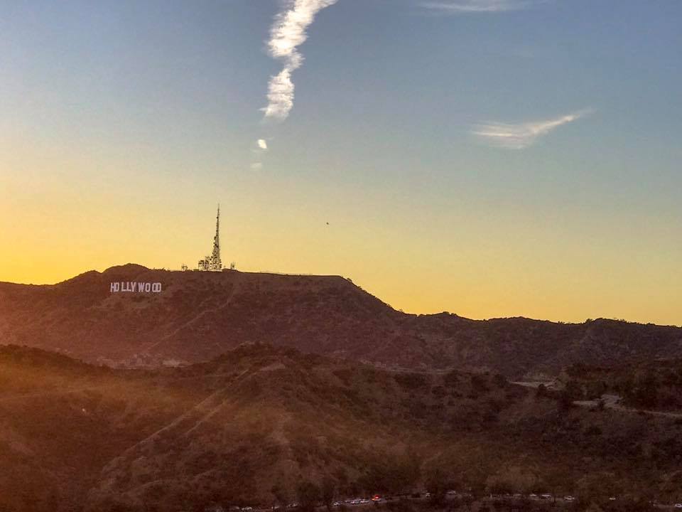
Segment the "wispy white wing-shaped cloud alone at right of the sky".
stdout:
[[577,121],[591,112],[590,109],[580,110],[556,119],[521,124],[482,123],[477,124],[471,133],[493,146],[504,149],[526,149],[532,146],[539,137],[543,137],[563,124]]

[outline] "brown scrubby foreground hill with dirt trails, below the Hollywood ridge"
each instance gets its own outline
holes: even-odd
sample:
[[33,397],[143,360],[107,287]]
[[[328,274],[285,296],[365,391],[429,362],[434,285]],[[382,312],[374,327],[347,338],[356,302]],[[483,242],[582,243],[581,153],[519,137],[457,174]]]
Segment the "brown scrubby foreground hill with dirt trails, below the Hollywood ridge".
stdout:
[[682,421],[565,407],[502,375],[242,346],[156,370],[0,348],[0,510],[203,511],[399,493],[682,493]]

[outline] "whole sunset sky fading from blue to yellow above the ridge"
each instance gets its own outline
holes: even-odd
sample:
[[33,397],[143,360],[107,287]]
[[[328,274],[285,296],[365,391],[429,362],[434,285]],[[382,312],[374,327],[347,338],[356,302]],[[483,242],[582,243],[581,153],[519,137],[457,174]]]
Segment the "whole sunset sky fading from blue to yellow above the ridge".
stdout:
[[220,202],[240,270],[682,324],[682,2],[338,0],[263,122],[281,9],[0,1],[0,280],[194,267]]

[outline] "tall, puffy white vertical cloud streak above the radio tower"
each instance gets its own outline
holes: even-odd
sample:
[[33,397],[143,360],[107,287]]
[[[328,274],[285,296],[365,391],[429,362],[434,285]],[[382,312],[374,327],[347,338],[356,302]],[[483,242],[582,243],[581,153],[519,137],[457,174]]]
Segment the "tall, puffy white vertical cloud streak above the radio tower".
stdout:
[[291,73],[303,65],[298,46],[308,38],[306,30],[315,15],[338,0],[287,0],[270,29],[268,51],[272,58],[283,60],[284,67],[270,78],[268,105],[261,109],[265,119],[283,121],[293,108],[294,85]]

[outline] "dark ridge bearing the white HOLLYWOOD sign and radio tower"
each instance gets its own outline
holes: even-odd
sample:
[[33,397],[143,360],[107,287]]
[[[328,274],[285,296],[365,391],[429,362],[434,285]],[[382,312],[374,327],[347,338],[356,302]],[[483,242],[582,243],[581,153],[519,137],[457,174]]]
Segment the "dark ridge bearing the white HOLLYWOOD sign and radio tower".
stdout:
[[[160,293],[112,293],[158,282]],[[571,363],[682,357],[682,329],[623,321],[474,321],[392,309],[347,279],[170,272],[139,265],[48,286],[0,283],[0,343],[112,366],[208,361],[241,343],[419,370],[556,374]]]

